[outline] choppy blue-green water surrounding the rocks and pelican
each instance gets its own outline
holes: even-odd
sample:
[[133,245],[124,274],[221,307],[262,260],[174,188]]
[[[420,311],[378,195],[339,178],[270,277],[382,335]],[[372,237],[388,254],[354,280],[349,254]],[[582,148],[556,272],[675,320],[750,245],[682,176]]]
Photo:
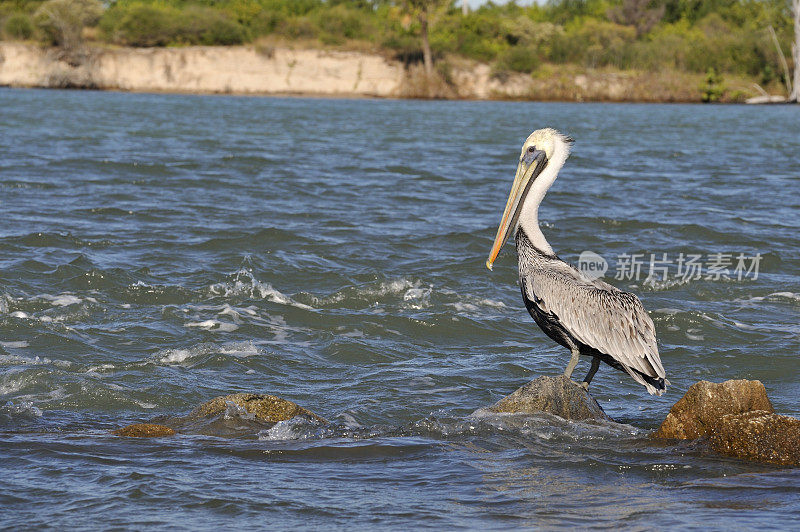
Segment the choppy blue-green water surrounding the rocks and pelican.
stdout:
[[[673,384],[602,368],[619,424],[471,416],[567,361],[513,247],[483,266],[545,125],[577,143],[544,231],[640,295]],[[798,153],[797,107],[2,90],[0,525],[789,527],[798,472],[645,436],[699,379],[800,414]],[[623,253],[669,276],[615,280]],[[235,391],[333,424],[108,433]]]

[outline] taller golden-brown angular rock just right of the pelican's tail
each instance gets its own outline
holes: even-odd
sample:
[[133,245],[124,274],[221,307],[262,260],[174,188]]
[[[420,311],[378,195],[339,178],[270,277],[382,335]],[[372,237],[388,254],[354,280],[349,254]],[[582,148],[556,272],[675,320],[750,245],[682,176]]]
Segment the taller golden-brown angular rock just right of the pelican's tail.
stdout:
[[753,410],[775,412],[761,381],[700,381],[672,406],[653,436],[693,440],[708,436],[723,416]]

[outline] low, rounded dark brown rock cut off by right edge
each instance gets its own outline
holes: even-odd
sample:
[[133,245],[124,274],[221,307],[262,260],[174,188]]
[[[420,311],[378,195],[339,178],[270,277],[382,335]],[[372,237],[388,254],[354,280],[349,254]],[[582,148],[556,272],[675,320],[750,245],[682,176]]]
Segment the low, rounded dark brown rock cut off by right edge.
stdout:
[[722,416],[708,437],[721,454],[800,466],[800,419],[755,410]]

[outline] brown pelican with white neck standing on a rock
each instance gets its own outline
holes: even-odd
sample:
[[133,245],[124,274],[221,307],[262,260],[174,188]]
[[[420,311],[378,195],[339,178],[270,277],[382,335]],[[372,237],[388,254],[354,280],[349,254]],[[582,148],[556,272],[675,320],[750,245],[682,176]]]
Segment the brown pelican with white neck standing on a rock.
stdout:
[[573,140],[554,129],[531,133],[522,145],[500,228],[486,261],[492,264],[511,230],[516,232],[522,299],[539,327],[572,351],[564,375],[580,355],[592,357],[582,386],[589,388],[600,361],[624,371],[653,395],[666,391],[653,320],[635,295],[584,276],[553,252],[539,229],[539,204],[569,157]]

